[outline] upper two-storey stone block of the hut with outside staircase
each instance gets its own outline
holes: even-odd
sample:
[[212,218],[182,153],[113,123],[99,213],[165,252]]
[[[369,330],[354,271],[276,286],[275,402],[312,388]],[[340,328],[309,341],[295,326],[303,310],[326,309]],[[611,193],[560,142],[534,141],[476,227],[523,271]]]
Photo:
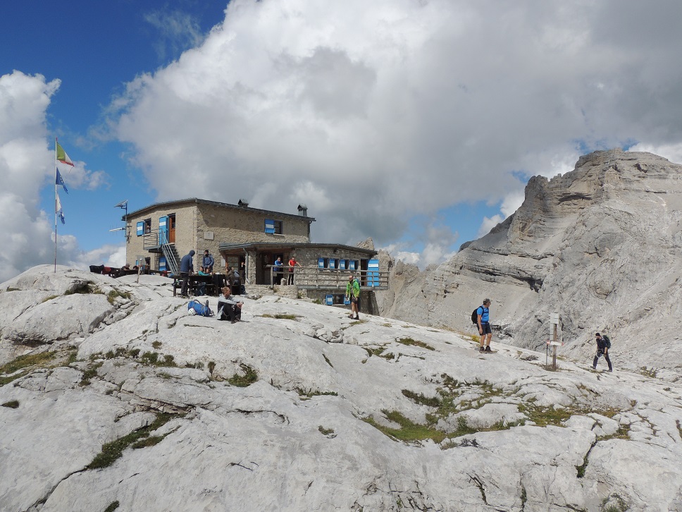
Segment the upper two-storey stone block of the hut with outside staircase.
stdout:
[[221,243],[309,243],[315,219],[308,217],[305,205],[299,205],[298,214],[287,214],[252,208],[244,200],[229,205],[193,197],[149,205],[130,212],[125,221],[127,263],[177,272],[180,258],[190,250],[196,252],[195,270],[205,249],[216,260],[216,271],[246,262],[246,252],[221,259]]

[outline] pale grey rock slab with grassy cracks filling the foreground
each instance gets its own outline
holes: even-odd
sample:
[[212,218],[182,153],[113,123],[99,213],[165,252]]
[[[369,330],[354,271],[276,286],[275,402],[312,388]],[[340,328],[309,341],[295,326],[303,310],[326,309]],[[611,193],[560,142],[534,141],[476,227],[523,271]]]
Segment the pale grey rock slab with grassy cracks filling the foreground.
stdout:
[[[0,510],[682,511],[678,384],[292,298],[219,322],[134,279],[0,286]],[[5,336],[83,282],[104,316]]]

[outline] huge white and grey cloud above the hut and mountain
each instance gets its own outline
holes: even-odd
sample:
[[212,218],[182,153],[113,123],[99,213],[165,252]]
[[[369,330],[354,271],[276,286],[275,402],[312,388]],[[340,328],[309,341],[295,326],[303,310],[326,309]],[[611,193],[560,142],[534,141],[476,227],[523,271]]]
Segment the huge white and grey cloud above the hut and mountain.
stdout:
[[[110,114],[158,200],[305,202],[314,241],[378,246],[415,215],[502,202],[485,231],[528,176],[682,139],[681,14],[631,0],[233,0]],[[454,235],[438,236],[414,240],[422,262],[450,254]]]

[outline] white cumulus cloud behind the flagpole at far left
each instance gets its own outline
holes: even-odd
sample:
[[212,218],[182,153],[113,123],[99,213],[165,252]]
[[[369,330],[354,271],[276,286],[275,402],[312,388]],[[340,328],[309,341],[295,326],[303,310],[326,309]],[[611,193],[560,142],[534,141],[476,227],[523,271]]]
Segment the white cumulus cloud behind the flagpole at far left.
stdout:
[[[46,185],[54,187],[54,147],[47,142],[45,116],[59,85],[59,80],[46,82],[42,75],[19,71],[0,76],[0,282],[54,262],[54,212],[40,209],[39,193]],[[68,186],[88,187],[99,179],[82,162],[70,175],[60,172],[66,172]],[[68,221],[68,211],[66,216]],[[73,236],[58,236],[57,254],[58,264],[87,268],[75,264],[82,252]]]

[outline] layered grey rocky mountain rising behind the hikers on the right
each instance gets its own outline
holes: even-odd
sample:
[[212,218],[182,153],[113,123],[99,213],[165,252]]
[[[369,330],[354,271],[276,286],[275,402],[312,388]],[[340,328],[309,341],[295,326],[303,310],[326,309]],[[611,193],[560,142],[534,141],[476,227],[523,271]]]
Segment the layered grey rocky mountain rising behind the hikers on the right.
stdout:
[[606,331],[617,366],[676,379],[681,209],[682,166],[650,153],[588,154],[564,176],[531,178],[516,213],[449,262],[394,281],[403,288],[378,299],[380,312],[473,332],[471,311],[488,297],[497,338],[542,351],[558,312],[560,353],[586,361],[595,331]]

